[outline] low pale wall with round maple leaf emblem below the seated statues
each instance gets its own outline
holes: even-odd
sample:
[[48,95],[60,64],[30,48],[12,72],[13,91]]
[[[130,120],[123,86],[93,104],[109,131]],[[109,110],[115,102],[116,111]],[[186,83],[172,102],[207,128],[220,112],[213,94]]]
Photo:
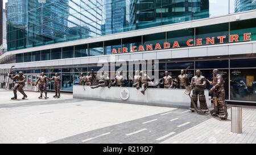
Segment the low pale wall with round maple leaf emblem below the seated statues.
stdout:
[[[85,86],[73,86],[73,98],[101,100],[118,103],[142,104],[148,106],[189,108],[190,99],[184,89],[148,88],[145,95],[135,87],[98,87],[91,89]],[[205,90],[207,105],[210,107],[209,91]],[[127,99],[126,99],[127,98]],[[198,103],[199,106],[199,103]]]

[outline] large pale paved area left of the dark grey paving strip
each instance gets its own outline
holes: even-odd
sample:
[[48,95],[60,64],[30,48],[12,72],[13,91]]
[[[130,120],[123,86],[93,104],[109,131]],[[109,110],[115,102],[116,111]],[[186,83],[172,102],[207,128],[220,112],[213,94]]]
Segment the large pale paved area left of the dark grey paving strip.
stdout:
[[49,143],[176,109],[73,99],[64,93],[55,99],[53,92],[49,99],[38,99],[39,93],[25,93],[28,99],[11,100],[13,93],[0,89],[0,143]]

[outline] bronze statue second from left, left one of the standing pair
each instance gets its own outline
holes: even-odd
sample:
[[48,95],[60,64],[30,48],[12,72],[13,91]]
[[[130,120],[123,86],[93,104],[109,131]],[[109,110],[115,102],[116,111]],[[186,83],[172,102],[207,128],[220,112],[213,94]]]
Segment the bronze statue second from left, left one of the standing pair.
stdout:
[[44,72],[41,73],[41,76],[39,76],[38,80],[36,80],[35,86],[39,82],[38,89],[40,91],[40,96],[38,97],[39,99],[42,99],[43,91],[44,91],[44,98],[47,99],[47,87],[48,87],[48,77],[44,76]]

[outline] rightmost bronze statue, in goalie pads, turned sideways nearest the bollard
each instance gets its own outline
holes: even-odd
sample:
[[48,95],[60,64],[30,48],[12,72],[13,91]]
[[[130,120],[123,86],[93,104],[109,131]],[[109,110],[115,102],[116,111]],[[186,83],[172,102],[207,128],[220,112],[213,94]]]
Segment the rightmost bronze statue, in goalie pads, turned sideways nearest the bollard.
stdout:
[[209,90],[209,93],[213,93],[214,109],[210,111],[213,116],[219,116],[221,119],[228,118],[228,111],[225,102],[225,89],[224,80],[221,74],[218,73],[218,69],[213,70],[213,81],[207,81],[213,87]]

